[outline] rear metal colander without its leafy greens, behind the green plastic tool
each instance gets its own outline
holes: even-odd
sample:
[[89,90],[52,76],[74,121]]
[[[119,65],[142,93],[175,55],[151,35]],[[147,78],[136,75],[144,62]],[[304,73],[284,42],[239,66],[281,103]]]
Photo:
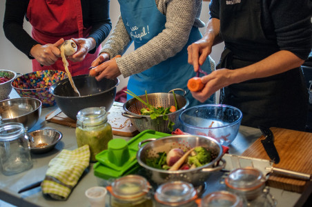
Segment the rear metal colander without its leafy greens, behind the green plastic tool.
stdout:
[[[156,92],[150,93],[147,95],[148,103],[152,106],[162,106],[167,108],[169,106],[175,106],[175,99],[177,100],[178,110],[176,112],[172,112],[168,114],[168,118],[175,123],[173,126],[174,129],[179,127],[179,115],[180,113],[188,106],[188,99],[182,95],[178,95],[175,93],[175,97],[173,95],[173,91],[182,90],[184,92],[184,96],[186,94],[185,90],[181,88],[170,90],[169,92]],[[142,100],[146,101],[146,95],[139,96]],[[124,117],[130,118],[131,123],[139,132],[144,130],[156,130],[158,132],[166,132],[170,133],[168,129],[168,120],[164,120],[163,116],[159,116],[156,119],[151,119],[149,115],[140,115],[141,109],[146,106],[138,101],[135,98],[129,99],[124,103],[124,113],[122,115]]]

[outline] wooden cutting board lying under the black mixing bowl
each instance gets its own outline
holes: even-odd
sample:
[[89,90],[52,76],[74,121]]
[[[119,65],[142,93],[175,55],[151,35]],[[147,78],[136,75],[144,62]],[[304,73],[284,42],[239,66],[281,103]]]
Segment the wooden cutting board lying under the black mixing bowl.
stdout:
[[[119,103],[119,102],[113,103],[113,106],[108,111],[109,112],[108,123],[112,126],[113,135],[117,135],[121,137],[134,137],[135,135],[139,133],[139,131],[137,130],[137,128],[135,128],[131,124],[131,121],[129,118],[121,115],[121,113],[124,112],[124,109],[122,108],[123,106],[124,106],[124,103]],[[52,114],[53,112],[51,112],[50,114]],[[64,112],[59,112],[57,115],[55,115],[51,119],[47,119],[50,114],[46,116],[46,121],[76,128],[76,121],[67,117],[64,114]]]

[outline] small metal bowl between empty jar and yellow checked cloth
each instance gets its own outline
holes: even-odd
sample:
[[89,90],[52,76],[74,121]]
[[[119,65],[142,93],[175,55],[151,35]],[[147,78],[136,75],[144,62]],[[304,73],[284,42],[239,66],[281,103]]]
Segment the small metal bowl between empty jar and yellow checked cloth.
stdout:
[[28,132],[30,135],[30,151],[41,154],[52,150],[63,137],[62,133],[55,129],[43,129]]

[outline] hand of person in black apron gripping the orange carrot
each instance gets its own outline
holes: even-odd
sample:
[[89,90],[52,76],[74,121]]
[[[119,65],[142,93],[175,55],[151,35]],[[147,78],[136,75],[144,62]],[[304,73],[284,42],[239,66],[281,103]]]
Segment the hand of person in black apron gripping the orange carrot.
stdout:
[[233,72],[235,71],[222,68],[202,77],[202,82],[205,86],[199,92],[191,91],[193,97],[203,103],[211,97],[211,95],[217,92],[217,90],[233,83]]

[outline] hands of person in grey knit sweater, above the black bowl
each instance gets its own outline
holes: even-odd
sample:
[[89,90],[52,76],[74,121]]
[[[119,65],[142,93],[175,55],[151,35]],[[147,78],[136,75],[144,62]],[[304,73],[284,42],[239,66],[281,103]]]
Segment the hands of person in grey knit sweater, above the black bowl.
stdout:
[[101,55],[99,55],[99,57],[97,57],[97,59],[95,59],[95,61],[92,62],[91,66],[97,66],[96,68],[92,69],[95,70],[95,72],[98,74],[95,77],[97,81],[100,81],[104,77],[107,79],[115,79],[121,75],[121,72],[116,63],[116,58],[121,56],[117,55],[113,59],[108,60],[109,57],[110,55],[108,55],[108,53],[103,52]]

